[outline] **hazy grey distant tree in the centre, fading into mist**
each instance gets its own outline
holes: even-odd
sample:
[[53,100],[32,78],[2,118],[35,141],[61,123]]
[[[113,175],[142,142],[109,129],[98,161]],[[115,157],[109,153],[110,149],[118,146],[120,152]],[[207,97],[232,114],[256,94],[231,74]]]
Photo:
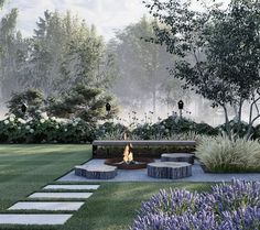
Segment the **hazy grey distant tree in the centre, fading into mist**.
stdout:
[[159,95],[167,92],[164,87],[170,83],[166,68],[173,62],[173,55],[160,45],[145,42],[154,35],[153,24],[156,22],[142,18],[138,23],[118,31],[109,46],[113,47],[118,61],[116,94],[124,98],[126,103],[141,102],[142,107],[151,99],[155,114]]

